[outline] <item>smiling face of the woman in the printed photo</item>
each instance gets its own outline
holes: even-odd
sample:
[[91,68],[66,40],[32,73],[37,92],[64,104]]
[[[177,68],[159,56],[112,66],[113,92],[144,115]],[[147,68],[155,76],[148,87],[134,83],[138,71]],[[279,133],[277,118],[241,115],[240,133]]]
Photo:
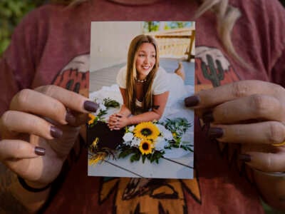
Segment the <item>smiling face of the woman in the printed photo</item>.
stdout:
[[137,70],[137,78],[143,80],[147,74],[152,71],[156,62],[155,46],[151,43],[143,43],[136,54],[135,68]]

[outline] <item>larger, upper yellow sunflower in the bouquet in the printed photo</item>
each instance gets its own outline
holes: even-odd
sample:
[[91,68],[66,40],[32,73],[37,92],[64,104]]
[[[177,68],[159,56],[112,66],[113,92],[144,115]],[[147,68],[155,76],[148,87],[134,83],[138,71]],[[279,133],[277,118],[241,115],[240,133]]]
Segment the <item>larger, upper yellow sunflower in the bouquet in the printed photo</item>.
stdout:
[[154,141],[160,135],[160,130],[152,122],[142,122],[135,126],[134,135],[137,138]]

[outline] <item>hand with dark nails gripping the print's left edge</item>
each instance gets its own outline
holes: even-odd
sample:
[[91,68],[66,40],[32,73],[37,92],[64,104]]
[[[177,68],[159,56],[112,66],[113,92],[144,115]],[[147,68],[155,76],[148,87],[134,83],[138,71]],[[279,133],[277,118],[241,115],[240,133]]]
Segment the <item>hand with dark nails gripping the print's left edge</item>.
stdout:
[[41,188],[60,173],[96,103],[58,86],[24,89],[0,119],[0,161]]

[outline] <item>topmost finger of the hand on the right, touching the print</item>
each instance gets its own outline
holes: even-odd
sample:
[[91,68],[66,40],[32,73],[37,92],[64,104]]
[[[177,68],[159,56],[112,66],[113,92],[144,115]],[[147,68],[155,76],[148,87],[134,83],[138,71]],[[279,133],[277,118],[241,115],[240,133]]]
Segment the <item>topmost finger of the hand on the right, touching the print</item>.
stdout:
[[257,93],[274,96],[277,99],[284,101],[284,98],[279,97],[279,94],[284,94],[285,89],[277,84],[264,81],[237,81],[216,88],[199,91],[195,96],[190,96],[185,99],[185,106],[211,108],[220,103],[232,101],[236,98],[251,96]]

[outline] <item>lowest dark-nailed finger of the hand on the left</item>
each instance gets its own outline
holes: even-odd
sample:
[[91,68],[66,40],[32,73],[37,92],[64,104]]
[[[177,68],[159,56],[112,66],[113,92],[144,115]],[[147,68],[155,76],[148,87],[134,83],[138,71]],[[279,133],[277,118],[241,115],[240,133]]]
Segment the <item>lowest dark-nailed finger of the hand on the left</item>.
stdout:
[[4,161],[11,158],[36,158],[44,156],[45,149],[33,146],[31,143],[20,140],[0,141],[0,160]]

